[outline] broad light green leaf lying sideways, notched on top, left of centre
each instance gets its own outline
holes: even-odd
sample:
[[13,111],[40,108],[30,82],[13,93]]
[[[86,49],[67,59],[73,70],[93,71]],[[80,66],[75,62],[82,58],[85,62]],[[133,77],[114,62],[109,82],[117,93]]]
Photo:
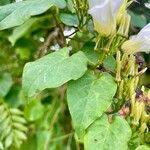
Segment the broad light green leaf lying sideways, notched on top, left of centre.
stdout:
[[56,88],[69,80],[77,80],[87,70],[87,58],[82,52],[69,57],[69,48],[27,63],[23,72],[25,95],[33,96],[46,88]]

